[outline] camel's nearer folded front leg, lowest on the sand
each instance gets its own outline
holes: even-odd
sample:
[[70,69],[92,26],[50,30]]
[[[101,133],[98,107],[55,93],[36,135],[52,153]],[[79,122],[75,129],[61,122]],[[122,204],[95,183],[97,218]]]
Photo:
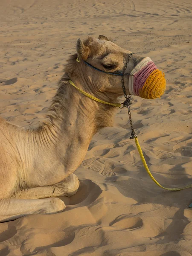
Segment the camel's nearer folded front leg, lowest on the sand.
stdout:
[[59,198],[0,199],[0,222],[15,220],[29,214],[62,212],[65,207]]

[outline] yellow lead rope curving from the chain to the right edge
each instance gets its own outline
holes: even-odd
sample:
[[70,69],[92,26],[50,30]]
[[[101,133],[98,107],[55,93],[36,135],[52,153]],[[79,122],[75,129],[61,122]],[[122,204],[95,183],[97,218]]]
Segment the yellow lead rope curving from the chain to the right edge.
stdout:
[[148,172],[148,175],[151,177],[151,179],[158,185],[160,186],[162,189],[166,189],[166,190],[171,190],[171,191],[178,191],[178,190],[183,190],[183,189],[188,189],[188,188],[191,188],[192,187],[192,184],[189,184],[189,185],[186,185],[186,186],[182,186],[182,187],[178,187],[178,188],[165,188],[163,186],[160,185],[160,183],[157,182],[157,180],[155,180],[155,178],[153,177],[153,175],[151,174],[151,172],[149,171],[148,169],[148,166],[147,166],[147,163],[145,161],[145,157],[143,156],[143,152],[142,152],[142,149],[140,147],[140,143],[137,139],[137,137],[135,138],[135,143],[137,145],[137,149],[139,151],[139,154],[140,154],[140,157],[141,157],[141,160],[143,162],[143,165],[145,167],[145,170]]

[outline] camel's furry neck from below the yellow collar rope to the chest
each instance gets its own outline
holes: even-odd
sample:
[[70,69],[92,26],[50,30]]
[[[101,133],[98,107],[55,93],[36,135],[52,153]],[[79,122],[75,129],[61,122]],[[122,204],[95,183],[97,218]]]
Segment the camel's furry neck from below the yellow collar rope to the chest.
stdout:
[[49,108],[50,122],[45,127],[49,127],[49,130],[51,127],[51,139],[52,134],[55,135],[56,154],[64,163],[66,171],[71,172],[80,165],[97,131],[112,126],[114,109],[113,106],[87,98],[68,81],[59,83]]

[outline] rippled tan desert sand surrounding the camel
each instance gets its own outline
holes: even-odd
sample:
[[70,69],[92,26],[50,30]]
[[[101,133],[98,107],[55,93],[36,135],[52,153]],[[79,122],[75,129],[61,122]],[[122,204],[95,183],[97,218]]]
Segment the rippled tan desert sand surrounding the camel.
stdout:
[[[192,183],[191,0],[1,0],[0,116],[38,125],[78,38],[100,34],[166,74],[161,99],[133,97],[134,128],[154,177]],[[127,110],[93,137],[64,212],[0,224],[0,256],[190,256],[192,189],[148,177]]]

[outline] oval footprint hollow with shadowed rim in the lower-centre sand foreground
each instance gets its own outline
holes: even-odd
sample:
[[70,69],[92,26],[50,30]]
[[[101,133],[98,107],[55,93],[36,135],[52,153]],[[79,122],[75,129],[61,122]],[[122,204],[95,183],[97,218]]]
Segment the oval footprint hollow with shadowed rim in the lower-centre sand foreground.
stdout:
[[129,217],[127,214],[119,215],[110,223],[112,227],[120,227],[123,229],[135,229],[143,226],[143,221],[140,217]]

